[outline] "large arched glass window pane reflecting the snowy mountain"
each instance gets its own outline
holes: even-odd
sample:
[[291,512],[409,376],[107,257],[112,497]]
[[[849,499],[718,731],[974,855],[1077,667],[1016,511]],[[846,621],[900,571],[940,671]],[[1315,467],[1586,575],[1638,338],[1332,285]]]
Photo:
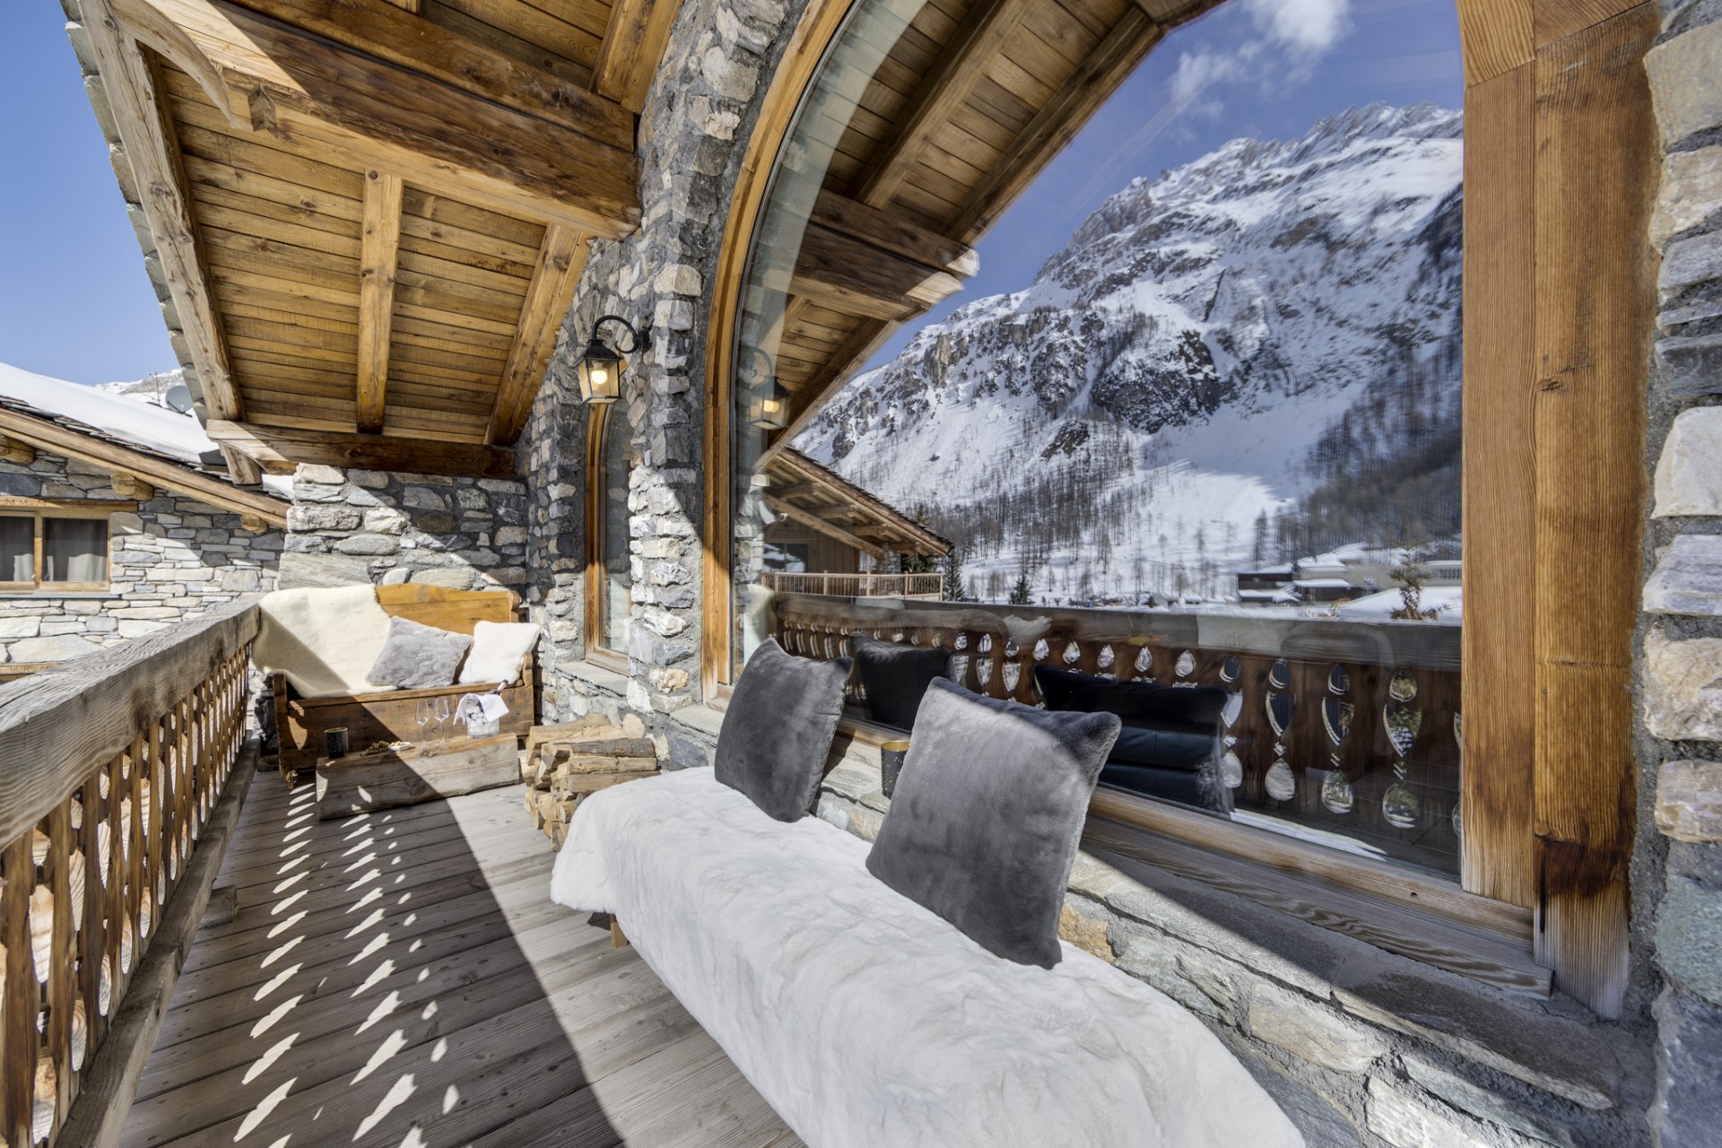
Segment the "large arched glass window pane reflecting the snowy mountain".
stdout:
[[[951,91],[956,24],[861,0],[802,100],[737,318],[730,673],[864,632],[1030,704],[1188,690],[1107,790],[1457,873],[1453,9],[1233,0],[1093,108],[1142,17],[1044,7]],[[952,542],[944,601],[775,589],[813,585],[766,573],[787,449]]]

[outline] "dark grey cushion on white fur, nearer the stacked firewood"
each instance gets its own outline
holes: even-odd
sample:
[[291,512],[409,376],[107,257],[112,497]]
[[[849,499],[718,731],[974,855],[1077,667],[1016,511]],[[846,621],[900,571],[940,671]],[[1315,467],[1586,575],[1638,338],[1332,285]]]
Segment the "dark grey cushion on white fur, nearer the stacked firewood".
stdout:
[[713,761],[718,781],[778,821],[799,821],[820,793],[847,682],[847,657],[796,657],[766,639],[723,711]]

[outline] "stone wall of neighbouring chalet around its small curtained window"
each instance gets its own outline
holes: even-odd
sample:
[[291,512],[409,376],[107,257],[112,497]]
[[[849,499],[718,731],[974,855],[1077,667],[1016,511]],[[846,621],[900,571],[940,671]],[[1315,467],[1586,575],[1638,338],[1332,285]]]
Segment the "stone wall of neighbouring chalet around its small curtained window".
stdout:
[[[107,470],[38,451],[0,461],[0,494],[117,499]],[[108,589],[0,594],[0,664],[67,661],[276,589],[281,530],[248,532],[239,515],[167,491],[108,516]]]

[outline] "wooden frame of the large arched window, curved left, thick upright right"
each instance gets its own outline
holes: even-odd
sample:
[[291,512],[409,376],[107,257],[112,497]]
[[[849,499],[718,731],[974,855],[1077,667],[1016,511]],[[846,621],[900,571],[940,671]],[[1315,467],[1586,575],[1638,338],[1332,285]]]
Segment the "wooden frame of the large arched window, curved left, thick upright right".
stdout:
[[[815,0],[773,74],[718,255],[706,349],[701,683],[732,683],[732,360],[742,274],[801,95],[852,0]],[[1462,878],[1481,916],[1529,916],[1538,964],[1603,1017],[1627,979],[1634,836],[1653,3],[1457,0],[1465,67]],[[1583,606],[1581,606],[1583,604]],[[1116,795],[1114,795],[1116,797]],[[1147,807],[1147,809],[1143,809]],[[1152,802],[1106,816],[1190,840]],[[1266,835],[1262,835],[1266,836]],[[1223,845],[1221,845],[1223,847]],[[1362,873],[1273,842],[1285,867]],[[1331,876],[1331,874],[1329,874]],[[1424,890],[1376,890],[1403,907]]]

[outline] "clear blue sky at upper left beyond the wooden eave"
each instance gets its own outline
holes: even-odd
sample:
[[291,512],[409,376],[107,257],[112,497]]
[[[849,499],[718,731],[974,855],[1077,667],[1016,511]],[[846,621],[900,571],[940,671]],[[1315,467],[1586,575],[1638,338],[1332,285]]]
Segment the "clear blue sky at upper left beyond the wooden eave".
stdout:
[[0,361],[74,382],[177,367],[53,0],[0,36]]

